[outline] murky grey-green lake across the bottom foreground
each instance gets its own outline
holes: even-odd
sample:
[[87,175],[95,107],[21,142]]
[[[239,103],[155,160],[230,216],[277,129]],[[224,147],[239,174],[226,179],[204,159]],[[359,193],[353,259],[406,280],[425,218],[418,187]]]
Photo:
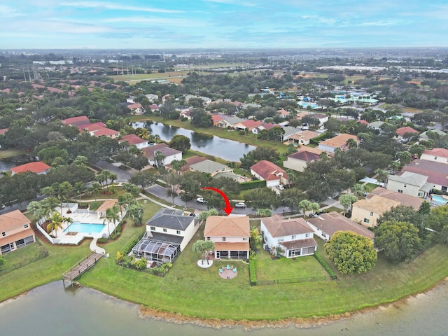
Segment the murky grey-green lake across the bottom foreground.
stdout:
[[1,335],[34,336],[447,335],[448,283],[445,281],[428,293],[416,295],[402,304],[309,328],[289,326],[245,331],[237,327],[216,330],[141,318],[138,312],[136,304],[89,288],[72,290],[69,287],[67,290],[62,281],[56,281],[0,304],[0,330]]

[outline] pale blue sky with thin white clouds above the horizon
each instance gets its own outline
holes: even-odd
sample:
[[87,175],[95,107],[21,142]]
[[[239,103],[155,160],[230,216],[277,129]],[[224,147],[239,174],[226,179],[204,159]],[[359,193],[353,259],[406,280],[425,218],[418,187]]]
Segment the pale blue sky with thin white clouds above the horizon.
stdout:
[[446,0],[7,0],[0,49],[448,46]]

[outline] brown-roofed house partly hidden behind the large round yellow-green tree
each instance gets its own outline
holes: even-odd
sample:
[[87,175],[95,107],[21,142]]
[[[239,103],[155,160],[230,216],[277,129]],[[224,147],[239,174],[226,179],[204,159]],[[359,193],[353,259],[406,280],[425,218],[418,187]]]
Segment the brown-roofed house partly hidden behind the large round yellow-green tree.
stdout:
[[351,219],[342,216],[336,211],[329,212],[328,214],[321,214],[318,217],[307,219],[307,223],[314,230],[314,233],[327,241],[337,231],[351,231],[357,235],[367,237],[373,242],[374,233]]

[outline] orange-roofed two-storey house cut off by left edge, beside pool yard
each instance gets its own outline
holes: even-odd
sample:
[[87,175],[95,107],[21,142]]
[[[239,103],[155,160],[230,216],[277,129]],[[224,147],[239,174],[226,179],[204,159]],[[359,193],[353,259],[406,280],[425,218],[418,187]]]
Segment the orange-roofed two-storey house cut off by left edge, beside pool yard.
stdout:
[[31,221],[19,210],[0,215],[0,255],[36,241]]

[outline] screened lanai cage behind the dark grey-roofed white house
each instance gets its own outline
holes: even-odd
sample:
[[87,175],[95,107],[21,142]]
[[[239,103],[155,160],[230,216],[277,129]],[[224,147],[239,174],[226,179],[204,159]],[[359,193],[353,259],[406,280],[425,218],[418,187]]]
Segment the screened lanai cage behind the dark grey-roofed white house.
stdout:
[[147,238],[146,235],[132,248],[136,258],[146,258],[160,264],[173,262],[181,253],[181,244]]

